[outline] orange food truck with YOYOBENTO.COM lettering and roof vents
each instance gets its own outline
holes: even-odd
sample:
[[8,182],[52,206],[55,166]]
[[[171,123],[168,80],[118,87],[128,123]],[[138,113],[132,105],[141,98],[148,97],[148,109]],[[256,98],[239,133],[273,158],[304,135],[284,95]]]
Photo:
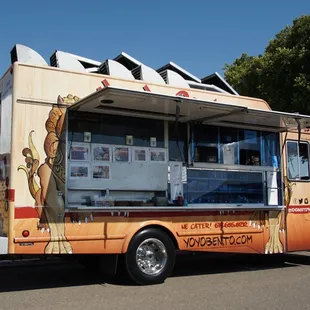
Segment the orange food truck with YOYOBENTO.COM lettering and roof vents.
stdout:
[[310,116],[125,53],[48,65],[16,45],[11,58],[0,254],[95,255],[109,270],[122,257],[144,285],[176,251],[310,249]]

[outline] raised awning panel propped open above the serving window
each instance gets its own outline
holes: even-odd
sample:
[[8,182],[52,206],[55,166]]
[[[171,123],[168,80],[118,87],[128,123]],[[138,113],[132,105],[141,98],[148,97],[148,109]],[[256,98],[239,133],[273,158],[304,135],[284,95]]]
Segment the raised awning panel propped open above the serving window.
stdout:
[[282,132],[310,127],[310,116],[259,110],[187,97],[106,87],[69,107],[70,111],[135,116]]

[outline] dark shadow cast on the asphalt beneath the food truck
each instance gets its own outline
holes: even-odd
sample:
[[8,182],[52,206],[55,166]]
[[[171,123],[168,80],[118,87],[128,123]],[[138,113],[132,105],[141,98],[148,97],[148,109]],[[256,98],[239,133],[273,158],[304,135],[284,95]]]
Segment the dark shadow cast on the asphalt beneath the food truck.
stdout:
[[[186,253],[177,255],[174,271],[170,277],[225,274],[231,272],[263,271],[268,269],[294,268],[310,265],[309,253],[283,254],[279,256],[249,254]],[[13,263],[1,267],[0,292],[24,291],[59,287],[113,284],[134,285],[120,272],[108,277],[86,270],[74,260],[52,262]]]

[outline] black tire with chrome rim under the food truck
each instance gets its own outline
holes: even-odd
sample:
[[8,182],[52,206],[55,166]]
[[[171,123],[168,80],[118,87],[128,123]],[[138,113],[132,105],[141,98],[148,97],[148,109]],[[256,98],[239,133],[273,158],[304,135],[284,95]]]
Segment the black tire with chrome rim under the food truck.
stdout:
[[163,283],[175,263],[175,247],[171,238],[160,229],[138,232],[125,254],[125,266],[130,278],[140,285]]

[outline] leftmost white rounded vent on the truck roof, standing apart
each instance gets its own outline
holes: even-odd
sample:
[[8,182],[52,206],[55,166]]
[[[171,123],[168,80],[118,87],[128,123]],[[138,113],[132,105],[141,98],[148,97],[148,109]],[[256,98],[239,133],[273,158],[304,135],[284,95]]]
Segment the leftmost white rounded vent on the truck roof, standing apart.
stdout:
[[16,44],[11,50],[11,63],[19,61],[26,64],[48,66],[44,58],[28,46]]

